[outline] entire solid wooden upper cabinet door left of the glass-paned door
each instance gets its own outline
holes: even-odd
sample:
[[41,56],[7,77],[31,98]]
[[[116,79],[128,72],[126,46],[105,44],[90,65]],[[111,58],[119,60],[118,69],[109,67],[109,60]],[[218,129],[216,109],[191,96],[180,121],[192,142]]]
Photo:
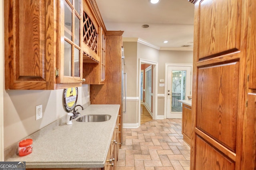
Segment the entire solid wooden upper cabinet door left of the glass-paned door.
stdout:
[[4,1],[6,89],[52,88],[52,6],[54,4],[50,0]]

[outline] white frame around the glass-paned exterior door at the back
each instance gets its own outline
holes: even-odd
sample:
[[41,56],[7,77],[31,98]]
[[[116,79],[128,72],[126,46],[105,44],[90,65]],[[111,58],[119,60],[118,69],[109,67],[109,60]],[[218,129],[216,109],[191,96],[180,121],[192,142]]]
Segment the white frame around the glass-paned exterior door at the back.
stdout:
[[[165,63],[165,86],[164,86],[164,119],[167,117],[167,86],[168,86],[168,66],[191,66],[191,72],[193,71],[193,64],[175,64],[175,63]],[[192,74],[190,78],[190,89],[192,90]]]

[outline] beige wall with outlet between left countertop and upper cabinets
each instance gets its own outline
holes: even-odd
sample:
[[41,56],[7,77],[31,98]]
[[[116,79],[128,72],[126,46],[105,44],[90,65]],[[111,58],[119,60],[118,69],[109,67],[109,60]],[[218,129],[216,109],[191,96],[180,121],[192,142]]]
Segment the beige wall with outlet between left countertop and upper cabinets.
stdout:
[[[88,85],[78,87],[77,104],[89,102]],[[4,148],[66,115],[60,90],[4,90]],[[35,107],[42,104],[42,119]]]

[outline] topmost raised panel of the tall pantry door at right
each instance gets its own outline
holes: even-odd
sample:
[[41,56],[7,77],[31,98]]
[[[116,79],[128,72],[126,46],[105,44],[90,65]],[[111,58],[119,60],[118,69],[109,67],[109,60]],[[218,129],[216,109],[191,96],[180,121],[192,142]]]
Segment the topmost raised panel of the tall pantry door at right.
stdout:
[[239,0],[202,0],[199,6],[199,60],[240,49]]

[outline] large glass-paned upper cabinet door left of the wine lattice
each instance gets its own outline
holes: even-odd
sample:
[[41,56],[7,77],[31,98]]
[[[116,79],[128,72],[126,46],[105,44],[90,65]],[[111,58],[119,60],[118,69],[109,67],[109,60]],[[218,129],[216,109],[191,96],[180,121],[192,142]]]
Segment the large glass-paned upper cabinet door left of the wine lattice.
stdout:
[[[82,82],[82,0],[60,0],[58,83]],[[58,35],[57,35],[58,37]]]

